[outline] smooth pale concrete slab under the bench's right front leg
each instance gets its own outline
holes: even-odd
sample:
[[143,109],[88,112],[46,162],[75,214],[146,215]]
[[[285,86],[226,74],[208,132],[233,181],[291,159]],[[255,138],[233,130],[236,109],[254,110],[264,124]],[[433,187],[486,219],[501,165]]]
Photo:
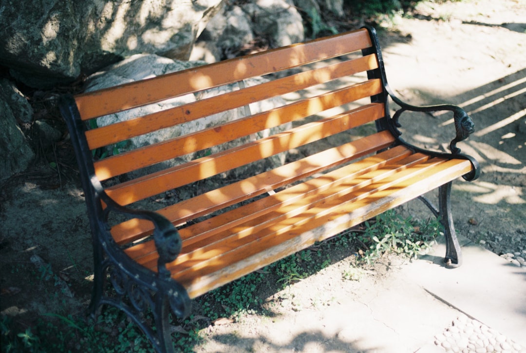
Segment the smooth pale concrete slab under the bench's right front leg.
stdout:
[[[504,336],[526,352],[526,269],[469,240],[461,242],[464,263],[460,268],[441,266],[442,257],[435,254],[443,254],[445,246],[437,244],[431,254],[408,264],[399,275],[490,328],[488,337]],[[460,334],[458,343],[469,338],[465,332]],[[517,347],[509,350],[521,351]],[[500,350],[505,349],[495,348]]]

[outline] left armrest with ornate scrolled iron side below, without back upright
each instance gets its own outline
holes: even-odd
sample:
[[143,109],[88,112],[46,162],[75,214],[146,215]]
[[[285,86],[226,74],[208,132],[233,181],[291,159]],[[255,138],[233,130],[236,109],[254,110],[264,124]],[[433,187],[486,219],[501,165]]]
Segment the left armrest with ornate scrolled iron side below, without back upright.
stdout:
[[[157,351],[173,351],[167,325],[169,312],[178,318],[184,318],[189,315],[191,307],[186,289],[171,278],[166,268],[166,264],[174,261],[181,251],[179,233],[174,225],[159,213],[124,208],[110,199],[104,191],[100,193],[100,199],[106,204],[102,217],[104,222],[100,224],[101,228],[105,229],[99,233],[99,236],[106,239],[102,241],[106,253],[103,272],[109,274],[109,281],[115,289],[115,294],[102,297],[100,304],[107,303],[126,312],[145,332]],[[118,249],[107,226],[108,215],[112,211],[153,222],[153,238],[159,254],[157,273],[140,266]],[[151,330],[149,325],[145,325],[144,318],[148,313],[154,317],[155,331]]]

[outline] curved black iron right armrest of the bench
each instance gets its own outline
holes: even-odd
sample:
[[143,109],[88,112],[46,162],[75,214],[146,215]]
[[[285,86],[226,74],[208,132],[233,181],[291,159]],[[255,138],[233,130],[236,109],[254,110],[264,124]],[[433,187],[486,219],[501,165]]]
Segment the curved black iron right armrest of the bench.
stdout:
[[393,102],[400,105],[400,109],[395,112],[392,117],[393,123],[397,128],[401,125],[398,122],[400,115],[404,111],[413,112],[438,112],[438,111],[452,111],[453,120],[456,130],[456,136],[449,143],[449,150],[453,154],[459,154],[460,149],[457,147],[457,143],[466,140],[470,134],[475,131],[475,124],[471,120],[471,117],[461,107],[452,104],[438,104],[438,105],[423,105],[416,106],[401,101],[395,93],[392,92],[389,86],[386,86],[387,93],[391,96]]

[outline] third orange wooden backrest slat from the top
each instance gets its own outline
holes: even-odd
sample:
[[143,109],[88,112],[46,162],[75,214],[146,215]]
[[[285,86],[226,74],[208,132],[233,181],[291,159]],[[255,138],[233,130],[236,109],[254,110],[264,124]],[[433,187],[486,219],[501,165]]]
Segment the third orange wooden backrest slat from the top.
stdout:
[[[252,115],[223,125],[227,126],[228,129],[223,129],[222,126],[216,126],[214,129],[211,129],[211,131],[210,129],[207,130],[207,133],[215,133],[217,135],[215,141],[229,140],[229,133],[232,134],[230,136],[237,136],[240,131],[247,135],[249,134],[247,131],[238,129],[239,124],[245,124],[243,126],[247,129],[249,129],[249,126],[252,124],[256,126],[256,129],[252,128],[250,131],[261,131],[290,121],[302,119],[306,116],[317,114],[331,109],[332,107],[340,106],[363,97],[378,94],[381,92],[381,89],[381,82],[378,79],[369,80],[351,87],[345,87],[340,90],[287,104],[264,113]],[[234,128],[234,126],[236,127]],[[176,148],[180,148],[181,143],[183,145],[185,143],[193,144],[195,141],[193,138],[194,134],[187,136],[188,139],[185,139],[185,137],[171,139],[97,161],[95,162],[95,174],[99,180],[106,180],[120,174],[145,168],[146,166],[184,155],[182,151],[176,150]],[[204,179],[204,177],[200,179]]]

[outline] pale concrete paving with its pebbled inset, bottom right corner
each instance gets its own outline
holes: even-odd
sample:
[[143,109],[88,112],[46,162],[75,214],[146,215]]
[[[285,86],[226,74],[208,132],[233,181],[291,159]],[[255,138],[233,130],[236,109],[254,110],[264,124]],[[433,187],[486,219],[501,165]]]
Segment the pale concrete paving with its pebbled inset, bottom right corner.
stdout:
[[436,347],[526,352],[526,268],[469,240],[462,239],[461,243],[464,263],[460,268],[440,266],[442,258],[434,254],[443,254],[445,246],[438,244],[430,255],[400,272],[400,276],[459,311],[458,318],[419,352]]

